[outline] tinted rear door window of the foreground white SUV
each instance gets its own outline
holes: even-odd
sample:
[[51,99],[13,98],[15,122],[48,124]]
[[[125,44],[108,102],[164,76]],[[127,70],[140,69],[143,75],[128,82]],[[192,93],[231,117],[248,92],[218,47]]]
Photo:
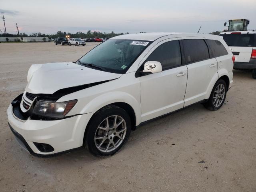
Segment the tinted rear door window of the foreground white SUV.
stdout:
[[182,40],[186,63],[209,58],[208,46],[203,39]]

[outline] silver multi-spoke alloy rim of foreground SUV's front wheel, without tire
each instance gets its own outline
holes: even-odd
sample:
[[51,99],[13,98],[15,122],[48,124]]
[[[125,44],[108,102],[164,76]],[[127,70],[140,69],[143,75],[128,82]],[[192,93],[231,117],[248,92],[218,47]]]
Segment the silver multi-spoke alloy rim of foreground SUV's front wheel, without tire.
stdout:
[[109,116],[98,126],[94,143],[101,152],[111,152],[122,144],[126,136],[126,122],[118,115]]

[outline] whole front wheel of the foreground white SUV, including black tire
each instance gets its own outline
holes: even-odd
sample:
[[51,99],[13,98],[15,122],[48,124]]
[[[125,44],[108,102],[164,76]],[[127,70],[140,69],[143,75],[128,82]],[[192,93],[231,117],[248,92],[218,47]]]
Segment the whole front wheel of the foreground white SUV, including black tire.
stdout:
[[90,120],[84,136],[84,146],[96,156],[113,155],[127,142],[131,120],[118,106],[102,108]]

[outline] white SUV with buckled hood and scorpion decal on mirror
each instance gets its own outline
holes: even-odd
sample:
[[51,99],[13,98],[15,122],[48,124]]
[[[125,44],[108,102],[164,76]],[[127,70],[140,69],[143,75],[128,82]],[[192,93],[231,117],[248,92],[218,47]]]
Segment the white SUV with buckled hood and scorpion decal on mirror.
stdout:
[[32,65],[25,92],[8,107],[8,122],[34,155],[80,146],[111,155],[142,122],[198,102],[218,110],[232,86],[232,69],[221,36],[116,36],[76,63]]

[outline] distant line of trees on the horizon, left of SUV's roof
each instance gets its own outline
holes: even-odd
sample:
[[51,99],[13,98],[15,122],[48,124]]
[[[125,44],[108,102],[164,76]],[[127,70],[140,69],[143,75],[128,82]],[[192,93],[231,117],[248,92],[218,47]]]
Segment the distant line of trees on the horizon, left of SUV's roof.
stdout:
[[92,32],[91,30],[89,30],[87,33],[83,33],[83,32],[76,32],[74,34],[70,33],[70,32],[62,32],[62,31],[58,31],[55,34],[44,34],[41,32],[38,33],[32,33],[30,35],[26,34],[26,33],[20,33],[20,35],[18,34],[0,34],[0,37],[48,37],[49,39],[52,38],[57,38],[57,37],[65,37],[66,35],[69,35],[70,38],[112,38],[114,36],[118,36],[118,35],[123,35],[123,34],[129,34],[127,33],[115,33],[115,32],[110,32],[110,33],[102,33],[102,32],[97,32],[94,31]]

